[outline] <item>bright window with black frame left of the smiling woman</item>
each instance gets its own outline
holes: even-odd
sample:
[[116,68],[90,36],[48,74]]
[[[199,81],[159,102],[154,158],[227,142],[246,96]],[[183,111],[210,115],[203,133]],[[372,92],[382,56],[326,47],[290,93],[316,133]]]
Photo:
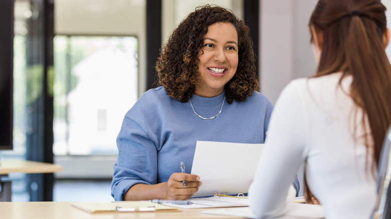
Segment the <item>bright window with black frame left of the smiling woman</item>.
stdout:
[[137,38],[54,42],[54,154],[115,155],[123,116],[137,100]]

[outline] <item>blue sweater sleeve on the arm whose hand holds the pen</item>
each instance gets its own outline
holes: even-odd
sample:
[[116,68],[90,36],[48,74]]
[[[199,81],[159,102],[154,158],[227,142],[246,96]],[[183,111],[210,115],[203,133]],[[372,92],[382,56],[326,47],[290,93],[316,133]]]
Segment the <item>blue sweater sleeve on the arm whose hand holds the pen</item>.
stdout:
[[146,132],[129,117],[117,136],[118,156],[114,164],[111,195],[116,201],[134,184],[156,184],[157,149]]

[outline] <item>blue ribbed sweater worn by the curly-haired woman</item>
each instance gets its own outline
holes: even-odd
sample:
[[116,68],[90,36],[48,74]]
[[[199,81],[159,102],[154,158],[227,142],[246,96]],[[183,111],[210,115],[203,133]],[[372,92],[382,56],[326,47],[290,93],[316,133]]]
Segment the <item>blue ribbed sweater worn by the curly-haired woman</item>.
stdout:
[[[195,112],[216,115],[225,92],[207,98],[193,95]],[[191,172],[197,140],[263,143],[273,105],[260,92],[244,102],[224,103],[222,112],[205,120],[194,114],[190,102],[168,96],[164,87],[146,91],[126,113],[117,137],[111,195],[122,200],[137,183],[156,184],[180,172],[180,161]]]

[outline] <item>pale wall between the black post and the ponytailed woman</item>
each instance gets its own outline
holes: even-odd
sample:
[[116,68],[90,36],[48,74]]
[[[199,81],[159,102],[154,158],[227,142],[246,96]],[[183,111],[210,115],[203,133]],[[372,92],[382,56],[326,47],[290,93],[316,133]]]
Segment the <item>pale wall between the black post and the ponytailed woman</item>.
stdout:
[[309,17],[317,0],[262,0],[260,3],[260,85],[274,104],[294,78],[315,73]]

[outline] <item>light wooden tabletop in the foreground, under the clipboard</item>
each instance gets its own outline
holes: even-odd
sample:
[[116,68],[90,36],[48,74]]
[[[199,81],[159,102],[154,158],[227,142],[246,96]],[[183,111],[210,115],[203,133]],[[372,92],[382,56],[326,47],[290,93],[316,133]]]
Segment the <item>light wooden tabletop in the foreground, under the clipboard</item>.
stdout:
[[[77,195],[77,194],[75,194]],[[205,209],[180,209],[173,212],[107,212],[89,213],[74,206],[72,202],[0,202],[0,218],[18,219],[103,219],[103,218],[159,218],[159,219],[214,219],[243,217],[202,213]]]

